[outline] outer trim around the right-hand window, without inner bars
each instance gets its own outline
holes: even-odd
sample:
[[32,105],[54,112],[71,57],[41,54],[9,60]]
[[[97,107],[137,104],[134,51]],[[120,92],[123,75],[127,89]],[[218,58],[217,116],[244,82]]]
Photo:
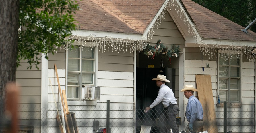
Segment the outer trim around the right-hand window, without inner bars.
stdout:
[[[242,103],[242,55],[243,55],[243,52],[242,51],[235,51],[235,50],[218,50],[218,57],[217,57],[217,59],[218,59],[218,61],[217,61],[217,70],[218,70],[218,72],[217,72],[217,95],[219,95],[219,54],[239,54],[239,55],[241,55],[241,58],[240,58],[240,79],[241,79],[241,81],[240,81],[240,93],[239,93],[239,101],[238,102],[230,102],[230,103]],[[217,98],[218,98],[218,96],[217,96]],[[217,101],[218,101],[218,99],[217,99]]]

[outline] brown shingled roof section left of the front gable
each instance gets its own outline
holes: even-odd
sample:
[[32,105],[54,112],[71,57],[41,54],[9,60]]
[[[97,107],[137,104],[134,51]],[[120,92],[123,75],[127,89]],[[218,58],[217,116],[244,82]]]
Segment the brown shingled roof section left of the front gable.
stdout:
[[80,30],[143,34],[165,0],[82,0]]

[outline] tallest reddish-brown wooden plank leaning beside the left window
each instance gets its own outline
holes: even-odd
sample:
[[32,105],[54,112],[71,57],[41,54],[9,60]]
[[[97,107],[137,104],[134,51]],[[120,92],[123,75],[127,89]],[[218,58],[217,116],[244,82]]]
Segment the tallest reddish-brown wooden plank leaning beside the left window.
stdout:
[[59,95],[60,95],[60,98],[61,98],[61,105],[62,105],[63,113],[64,113],[64,121],[65,121],[65,126],[66,126],[66,132],[71,133],[70,129],[69,129],[69,126],[68,126],[67,114],[66,114],[66,110],[65,110],[65,106],[64,106],[64,102],[63,102],[63,97],[62,97],[62,94],[61,94],[61,88],[60,88],[60,84],[59,84],[59,76],[58,76],[56,64],[54,64],[54,69],[55,69],[55,73],[56,73],[56,76],[57,76],[57,82],[58,82],[58,86],[59,86]]

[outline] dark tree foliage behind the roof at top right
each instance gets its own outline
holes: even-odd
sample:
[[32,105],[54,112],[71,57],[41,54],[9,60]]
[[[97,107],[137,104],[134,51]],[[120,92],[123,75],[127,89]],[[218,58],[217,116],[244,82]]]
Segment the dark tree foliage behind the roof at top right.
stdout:
[[[224,16],[225,18],[247,27],[256,18],[255,0],[193,0],[196,3]],[[251,26],[256,32],[256,23]]]

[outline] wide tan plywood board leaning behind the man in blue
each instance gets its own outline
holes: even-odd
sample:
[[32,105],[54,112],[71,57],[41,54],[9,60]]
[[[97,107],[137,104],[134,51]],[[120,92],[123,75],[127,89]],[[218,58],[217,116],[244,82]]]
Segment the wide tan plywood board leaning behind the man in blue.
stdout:
[[212,82],[210,75],[195,75],[198,98],[203,106],[204,111],[204,127],[203,130],[207,130],[208,133],[217,133],[217,121],[212,95]]

